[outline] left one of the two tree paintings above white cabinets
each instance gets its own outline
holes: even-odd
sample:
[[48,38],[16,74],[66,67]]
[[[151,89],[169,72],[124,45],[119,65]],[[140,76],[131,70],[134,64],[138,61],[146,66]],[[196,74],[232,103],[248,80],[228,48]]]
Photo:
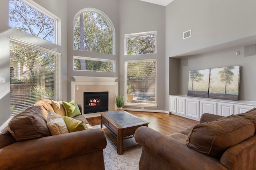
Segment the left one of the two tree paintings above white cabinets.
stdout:
[[188,96],[208,98],[210,69],[192,70],[188,75]]

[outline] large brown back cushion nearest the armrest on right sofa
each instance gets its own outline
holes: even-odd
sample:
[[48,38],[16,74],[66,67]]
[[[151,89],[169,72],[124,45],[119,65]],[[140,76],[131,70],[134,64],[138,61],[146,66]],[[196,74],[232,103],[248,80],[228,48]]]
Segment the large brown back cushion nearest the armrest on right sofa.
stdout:
[[198,152],[220,158],[225,150],[253,135],[254,125],[251,121],[231,115],[194,126],[186,144]]

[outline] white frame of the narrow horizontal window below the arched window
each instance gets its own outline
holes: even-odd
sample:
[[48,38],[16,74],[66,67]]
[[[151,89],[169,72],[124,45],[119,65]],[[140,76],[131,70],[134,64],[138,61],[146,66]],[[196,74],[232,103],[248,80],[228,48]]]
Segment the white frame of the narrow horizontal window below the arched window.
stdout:
[[98,71],[98,70],[75,70],[75,68],[74,68],[75,59],[90,60],[90,61],[102,61],[102,62],[112,62],[113,63],[113,70],[111,72],[116,72],[116,61],[115,60],[98,59],[98,58],[91,58],[91,57],[80,57],[80,56],[73,56],[73,70],[74,71],[107,72],[107,71]]

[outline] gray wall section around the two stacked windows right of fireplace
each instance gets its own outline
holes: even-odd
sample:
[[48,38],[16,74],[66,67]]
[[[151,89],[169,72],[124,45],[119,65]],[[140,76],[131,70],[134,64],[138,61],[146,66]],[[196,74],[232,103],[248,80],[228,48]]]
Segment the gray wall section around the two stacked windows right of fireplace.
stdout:
[[[124,55],[124,34],[157,31],[157,53],[146,55]],[[139,0],[120,0],[120,72],[119,89],[124,95],[124,61],[157,59],[157,108],[165,110],[165,6],[159,6]],[[125,107],[141,109],[141,107]]]

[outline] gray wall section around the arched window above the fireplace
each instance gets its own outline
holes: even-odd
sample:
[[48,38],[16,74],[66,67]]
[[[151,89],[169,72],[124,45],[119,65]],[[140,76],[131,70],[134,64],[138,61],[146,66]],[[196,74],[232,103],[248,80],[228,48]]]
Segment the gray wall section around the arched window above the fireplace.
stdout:
[[[74,27],[73,22],[76,14],[84,8],[96,8],[104,12],[114,24],[116,30],[116,55],[100,54],[88,51],[74,50]],[[93,76],[93,77],[118,77],[119,73],[119,0],[68,0],[68,101],[71,100],[71,81],[73,76]],[[74,70],[73,56],[92,57],[99,59],[110,59],[116,61],[116,72],[94,72]]]

